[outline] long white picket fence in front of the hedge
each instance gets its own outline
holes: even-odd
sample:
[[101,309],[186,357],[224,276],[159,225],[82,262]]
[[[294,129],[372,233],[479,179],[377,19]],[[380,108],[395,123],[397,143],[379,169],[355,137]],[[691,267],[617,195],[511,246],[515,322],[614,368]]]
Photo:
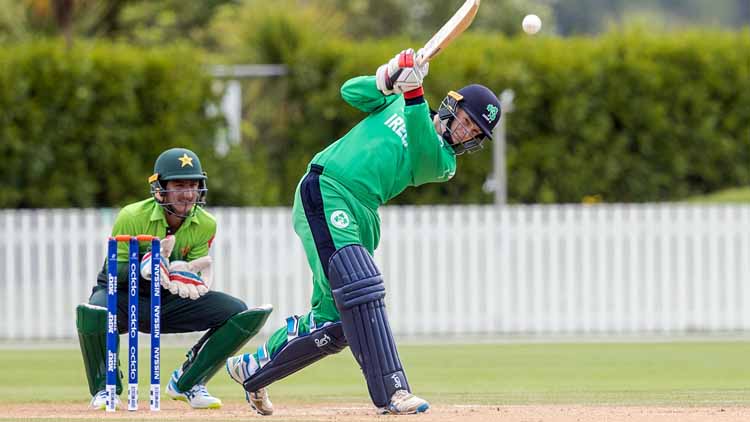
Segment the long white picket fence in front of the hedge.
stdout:
[[[214,288],[309,307],[287,208],[214,208]],[[0,341],[75,338],[113,210],[0,210]],[[385,207],[398,335],[750,331],[750,206]]]

